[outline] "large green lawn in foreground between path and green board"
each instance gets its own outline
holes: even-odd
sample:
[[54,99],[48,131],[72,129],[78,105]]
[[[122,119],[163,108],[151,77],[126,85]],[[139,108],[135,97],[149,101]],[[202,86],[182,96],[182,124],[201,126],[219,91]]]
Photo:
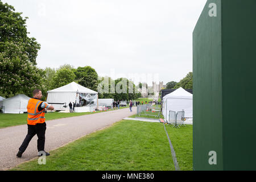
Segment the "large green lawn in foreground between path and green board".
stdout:
[[[167,126],[182,170],[192,170],[192,127]],[[122,120],[12,170],[175,170],[162,123]]]

